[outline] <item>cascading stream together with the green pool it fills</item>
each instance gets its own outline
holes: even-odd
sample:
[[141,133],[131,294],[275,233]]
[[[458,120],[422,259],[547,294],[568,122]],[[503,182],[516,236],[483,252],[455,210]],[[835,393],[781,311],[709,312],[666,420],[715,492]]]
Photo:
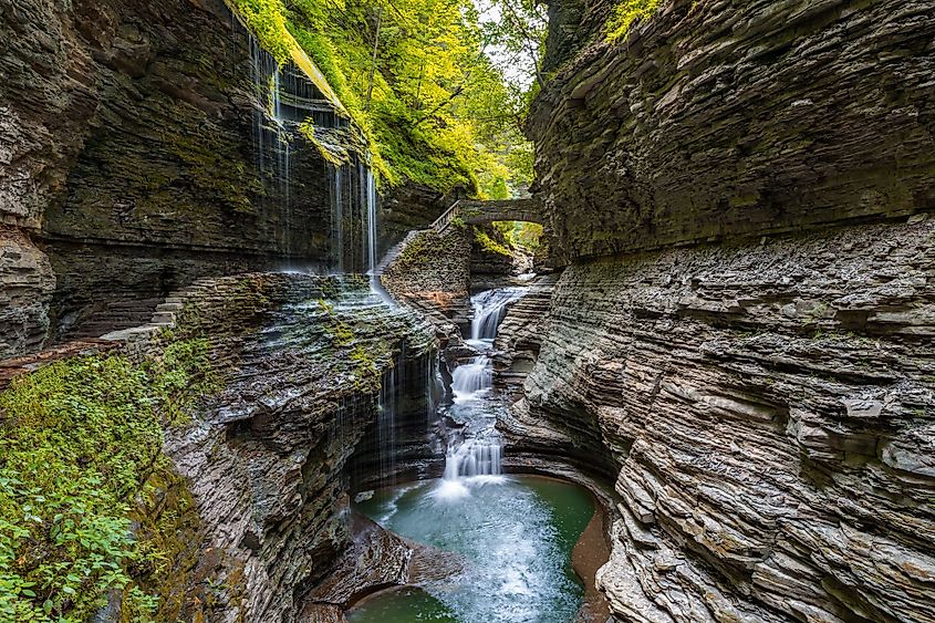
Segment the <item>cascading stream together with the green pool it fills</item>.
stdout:
[[492,388],[497,325],[523,288],[471,298],[467,343],[477,355],[453,372],[453,404],[440,415],[449,430],[440,479],[387,487],[356,505],[383,527],[458,554],[461,570],[372,595],[346,613],[352,623],[567,623],[578,615],[584,586],[571,552],[594,513],[591,495],[571,482],[506,476]]

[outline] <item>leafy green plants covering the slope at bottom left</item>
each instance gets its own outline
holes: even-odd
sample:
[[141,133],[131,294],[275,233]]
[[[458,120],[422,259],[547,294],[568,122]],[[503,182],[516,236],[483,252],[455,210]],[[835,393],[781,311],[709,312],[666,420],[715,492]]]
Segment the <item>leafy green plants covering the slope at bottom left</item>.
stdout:
[[0,620],[86,621],[113,590],[127,611],[153,611],[127,573],[146,551],[128,516],[163,419],[217,386],[207,353],[195,340],[139,364],[65,360],[0,393]]

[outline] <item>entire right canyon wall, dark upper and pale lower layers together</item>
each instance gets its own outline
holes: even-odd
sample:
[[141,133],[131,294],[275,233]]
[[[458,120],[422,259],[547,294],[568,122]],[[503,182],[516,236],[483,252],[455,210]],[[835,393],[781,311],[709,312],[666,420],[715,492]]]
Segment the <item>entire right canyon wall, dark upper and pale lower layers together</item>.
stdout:
[[610,8],[551,3],[509,451],[615,479],[620,620],[935,620],[931,6]]

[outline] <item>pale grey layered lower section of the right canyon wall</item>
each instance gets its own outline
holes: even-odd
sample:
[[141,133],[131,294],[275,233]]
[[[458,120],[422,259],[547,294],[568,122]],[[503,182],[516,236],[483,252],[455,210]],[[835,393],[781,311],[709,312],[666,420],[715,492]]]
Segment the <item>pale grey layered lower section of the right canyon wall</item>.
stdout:
[[626,621],[935,619],[935,222],[565,270],[520,455],[610,460]]

